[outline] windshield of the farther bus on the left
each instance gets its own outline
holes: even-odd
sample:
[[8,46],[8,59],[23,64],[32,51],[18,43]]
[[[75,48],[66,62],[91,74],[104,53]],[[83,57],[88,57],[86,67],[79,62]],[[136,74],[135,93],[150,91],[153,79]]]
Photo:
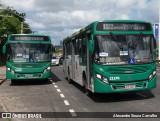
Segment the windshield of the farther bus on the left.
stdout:
[[49,44],[15,43],[8,44],[8,61],[12,62],[45,62],[50,61]]

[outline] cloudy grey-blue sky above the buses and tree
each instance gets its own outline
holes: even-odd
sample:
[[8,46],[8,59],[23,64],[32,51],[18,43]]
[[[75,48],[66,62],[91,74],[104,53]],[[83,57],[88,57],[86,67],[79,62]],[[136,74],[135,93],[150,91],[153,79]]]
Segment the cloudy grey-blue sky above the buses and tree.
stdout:
[[26,13],[32,31],[55,45],[93,21],[136,19],[159,23],[160,0],[0,0]]

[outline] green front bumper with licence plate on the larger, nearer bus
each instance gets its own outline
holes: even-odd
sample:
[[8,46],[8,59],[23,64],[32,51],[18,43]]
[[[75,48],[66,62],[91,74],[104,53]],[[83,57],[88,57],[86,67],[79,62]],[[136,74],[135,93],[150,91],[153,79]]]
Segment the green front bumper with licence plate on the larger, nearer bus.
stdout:
[[140,90],[150,90],[156,87],[156,75],[151,81],[136,81],[126,83],[109,83],[106,84],[99,79],[95,78],[94,81],[94,92],[95,93],[120,93]]

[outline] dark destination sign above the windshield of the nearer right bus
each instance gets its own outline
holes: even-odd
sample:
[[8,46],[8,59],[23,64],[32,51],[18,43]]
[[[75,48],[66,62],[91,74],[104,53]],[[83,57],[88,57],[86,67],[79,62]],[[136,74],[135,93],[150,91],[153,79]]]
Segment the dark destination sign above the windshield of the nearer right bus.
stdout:
[[115,23],[100,22],[97,24],[98,31],[150,31],[149,23]]

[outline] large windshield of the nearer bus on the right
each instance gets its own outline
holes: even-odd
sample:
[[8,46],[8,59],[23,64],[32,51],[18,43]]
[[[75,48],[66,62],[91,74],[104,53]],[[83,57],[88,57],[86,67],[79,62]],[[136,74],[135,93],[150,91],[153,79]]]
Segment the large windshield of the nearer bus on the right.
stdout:
[[94,60],[106,65],[151,63],[153,50],[153,35],[96,35]]

